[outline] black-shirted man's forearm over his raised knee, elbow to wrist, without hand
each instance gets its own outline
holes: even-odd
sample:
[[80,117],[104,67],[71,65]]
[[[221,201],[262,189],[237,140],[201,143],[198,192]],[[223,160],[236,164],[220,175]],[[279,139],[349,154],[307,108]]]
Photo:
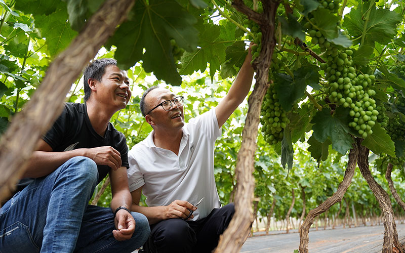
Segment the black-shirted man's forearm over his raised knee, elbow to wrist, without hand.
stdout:
[[27,170],[21,178],[47,176],[70,158],[85,156],[85,153],[85,149],[75,149],[65,152],[34,151],[28,162]]

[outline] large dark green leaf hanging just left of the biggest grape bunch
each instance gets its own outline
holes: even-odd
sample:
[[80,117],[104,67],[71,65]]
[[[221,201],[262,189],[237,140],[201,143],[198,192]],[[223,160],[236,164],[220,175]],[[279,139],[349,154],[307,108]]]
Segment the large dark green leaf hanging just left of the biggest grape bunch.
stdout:
[[337,107],[334,114],[331,114],[330,109],[323,108],[311,120],[311,123],[314,124],[312,126],[312,136],[321,143],[329,139],[332,142],[333,149],[341,154],[346,154],[353,143],[353,138],[348,134],[349,122],[350,116],[347,108],[341,109]]

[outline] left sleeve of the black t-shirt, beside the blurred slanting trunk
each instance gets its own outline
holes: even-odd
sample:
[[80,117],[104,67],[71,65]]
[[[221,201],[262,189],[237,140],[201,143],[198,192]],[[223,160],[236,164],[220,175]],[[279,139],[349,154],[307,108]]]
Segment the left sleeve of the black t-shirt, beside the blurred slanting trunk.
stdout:
[[61,115],[56,119],[52,128],[42,137],[46,143],[51,146],[53,150],[61,145],[65,137],[65,133],[70,123],[70,115],[67,105],[63,108]]

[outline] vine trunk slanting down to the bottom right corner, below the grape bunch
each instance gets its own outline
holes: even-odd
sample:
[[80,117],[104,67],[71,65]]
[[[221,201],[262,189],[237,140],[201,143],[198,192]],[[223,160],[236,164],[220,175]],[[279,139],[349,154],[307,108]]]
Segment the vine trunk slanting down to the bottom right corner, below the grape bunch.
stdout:
[[[360,141],[358,141],[360,146]],[[394,212],[391,206],[391,200],[387,192],[376,182],[369,169],[369,153],[370,150],[364,146],[359,147],[358,167],[361,175],[366,179],[374,196],[380,205],[382,215],[384,216],[384,242],[383,253],[392,253],[395,246],[399,252],[403,252],[402,246],[398,241],[398,233],[396,231]]]

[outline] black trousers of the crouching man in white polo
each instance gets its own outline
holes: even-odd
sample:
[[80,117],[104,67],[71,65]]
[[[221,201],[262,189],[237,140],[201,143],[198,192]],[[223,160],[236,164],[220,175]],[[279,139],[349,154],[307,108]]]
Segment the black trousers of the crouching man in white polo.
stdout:
[[233,203],[215,208],[203,219],[184,221],[169,219],[150,226],[150,236],[144,244],[145,252],[211,252],[219,236],[228,227],[235,212]]

